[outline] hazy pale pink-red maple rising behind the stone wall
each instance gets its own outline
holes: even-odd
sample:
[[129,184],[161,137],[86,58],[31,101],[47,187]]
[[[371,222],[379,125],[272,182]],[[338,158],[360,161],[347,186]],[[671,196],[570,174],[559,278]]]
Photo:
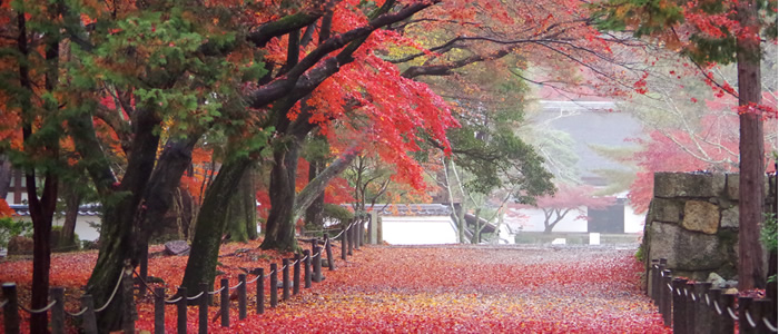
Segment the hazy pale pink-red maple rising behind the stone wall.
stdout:
[[[768,47],[768,51],[775,47]],[[771,53],[771,52],[769,52]],[[724,82],[734,80],[732,67],[709,71]],[[770,68],[766,68],[770,71]],[[648,78],[647,94],[634,96],[620,106],[634,115],[649,136],[635,138],[639,150],[619,160],[635,163],[637,170],[628,194],[633,207],[645,212],[652,197],[653,173],[707,170],[737,173],[739,163],[738,100],[712,91],[697,68],[676,57],[655,65]],[[763,96],[776,101],[776,77],[763,77]],[[775,102],[773,102],[775,104]],[[776,146],[776,127],[765,124],[766,153]],[[767,170],[772,169],[770,164]]]

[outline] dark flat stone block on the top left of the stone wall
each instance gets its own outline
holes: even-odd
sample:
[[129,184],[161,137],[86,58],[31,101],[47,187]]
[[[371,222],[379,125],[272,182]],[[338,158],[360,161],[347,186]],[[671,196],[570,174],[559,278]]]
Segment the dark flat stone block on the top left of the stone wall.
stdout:
[[655,173],[654,197],[717,197],[724,185],[722,174]]

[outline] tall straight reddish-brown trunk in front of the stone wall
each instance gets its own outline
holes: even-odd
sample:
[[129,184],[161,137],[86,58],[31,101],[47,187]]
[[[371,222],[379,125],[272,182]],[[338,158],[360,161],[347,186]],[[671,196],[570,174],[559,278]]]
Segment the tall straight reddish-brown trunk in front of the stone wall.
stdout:
[[739,289],[765,287],[760,223],[762,222],[765,155],[761,102],[760,39],[757,3],[740,1],[737,12],[748,32],[737,41],[739,84]]

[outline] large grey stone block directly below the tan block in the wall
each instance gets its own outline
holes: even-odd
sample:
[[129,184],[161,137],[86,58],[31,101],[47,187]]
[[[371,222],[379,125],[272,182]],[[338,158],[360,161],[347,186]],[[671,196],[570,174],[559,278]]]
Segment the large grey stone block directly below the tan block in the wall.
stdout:
[[727,262],[717,235],[694,233],[676,224],[653,223],[649,258],[668,258],[674,271],[716,271]]

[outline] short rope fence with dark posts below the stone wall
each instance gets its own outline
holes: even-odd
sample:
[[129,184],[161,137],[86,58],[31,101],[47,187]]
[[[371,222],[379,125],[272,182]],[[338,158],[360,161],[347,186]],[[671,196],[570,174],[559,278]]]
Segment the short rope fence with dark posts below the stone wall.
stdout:
[[652,259],[647,294],[673,333],[777,333],[776,301],[674,278],[667,267],[665,258]]

